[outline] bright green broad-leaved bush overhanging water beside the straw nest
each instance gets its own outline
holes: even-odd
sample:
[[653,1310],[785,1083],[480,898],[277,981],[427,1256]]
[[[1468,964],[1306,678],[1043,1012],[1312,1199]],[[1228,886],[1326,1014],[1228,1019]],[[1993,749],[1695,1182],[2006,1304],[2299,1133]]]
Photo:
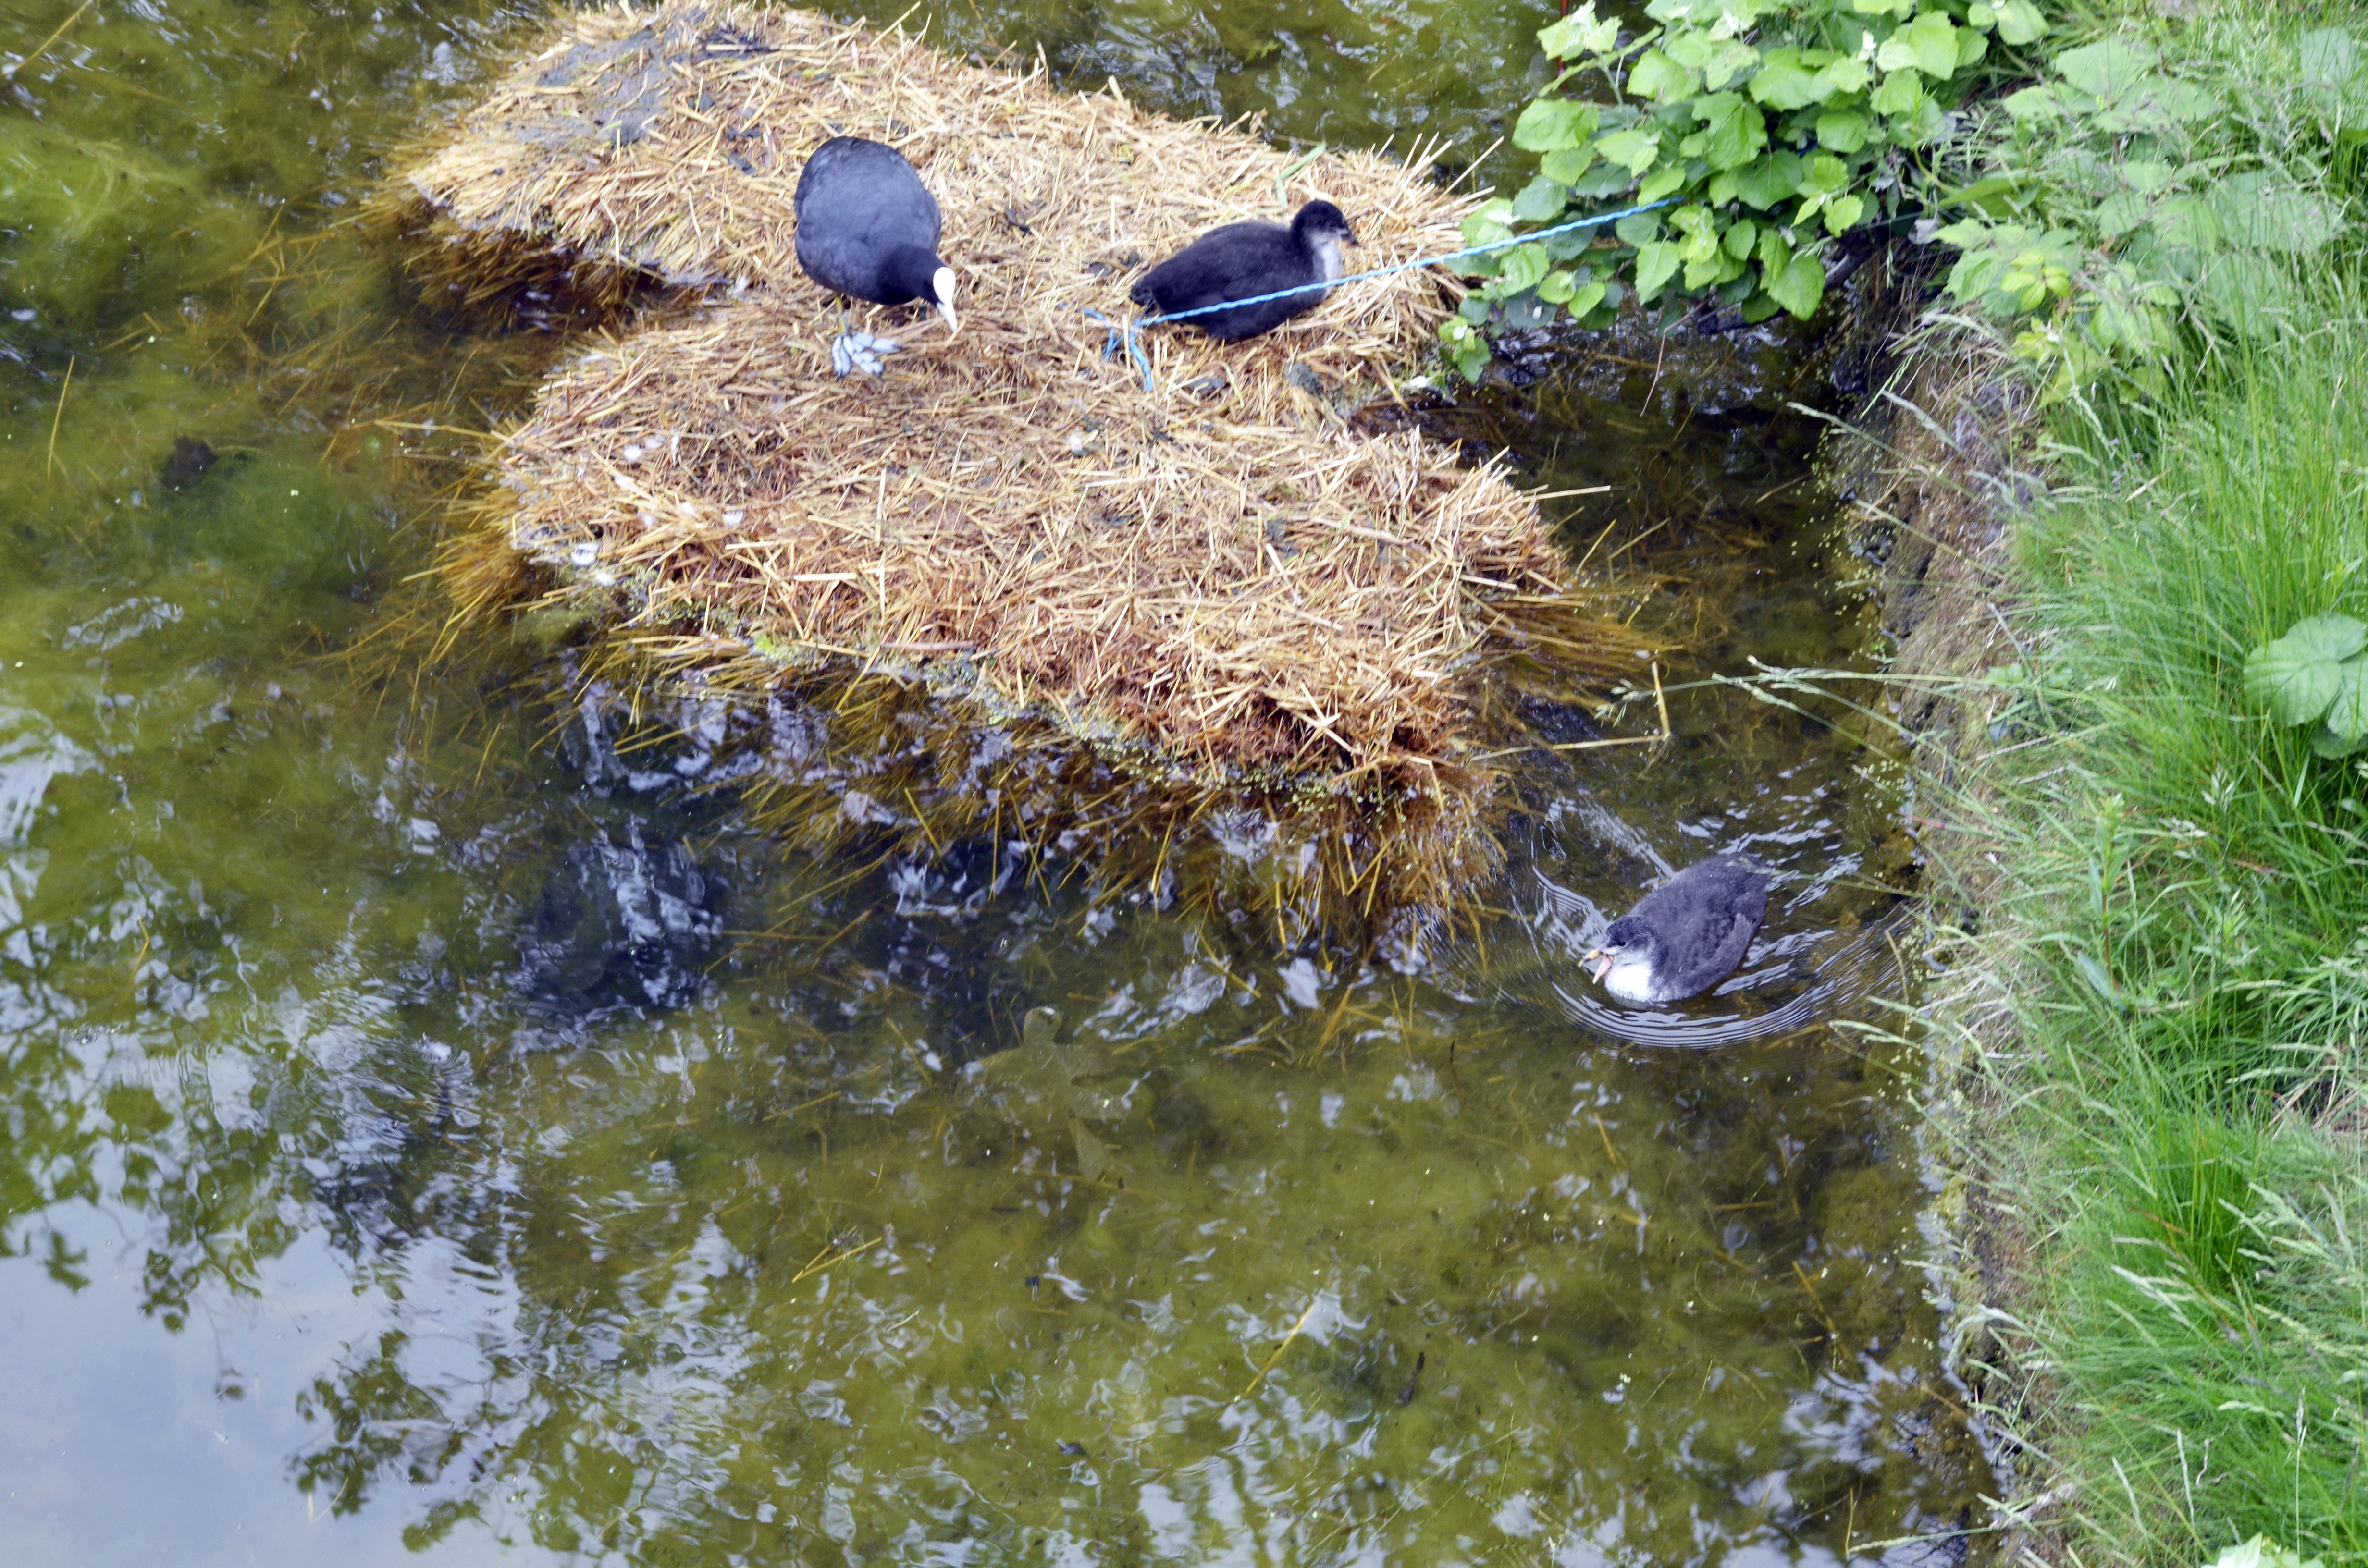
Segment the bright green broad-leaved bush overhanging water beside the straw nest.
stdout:
[[[1991,40],[2046,31],[2032,0],[1650,0],[1646,17],[1622,40],[1589,0],[1539,31],[1563,71],[1513,126],[1537,178],[1463,232],[1542,237],[1473,263],[1489,282],[1440,329],[1466,374],[1487,362],[1485,324],[1606,324],[1629,291],[1807,317],[1826,246],[1899,211],[1904,154],[1942,135]],[[1603,97],[1563,97],[1577,78]],[[1655,201],[1610,232],[1551,232]]]

